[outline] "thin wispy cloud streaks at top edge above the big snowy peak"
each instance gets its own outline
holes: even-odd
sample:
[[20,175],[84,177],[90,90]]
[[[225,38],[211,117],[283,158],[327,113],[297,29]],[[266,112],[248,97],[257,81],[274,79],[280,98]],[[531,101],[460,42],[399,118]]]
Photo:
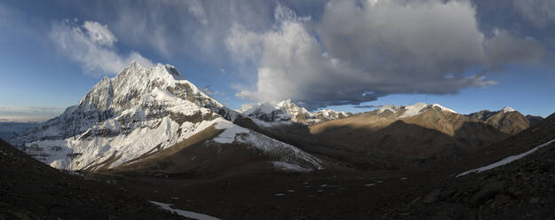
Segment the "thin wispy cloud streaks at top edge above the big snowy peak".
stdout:
[[271,15],[272,4],[249,0],[123,1],[115,5],[120,10],[113,25],[115,33],[128,43],[154,49],[165,58],[209,58],[210,65],[226,64],[229,58],[221,51],[226,47],[222,36],[234,23],[253,28],[271,25],[266,13]]

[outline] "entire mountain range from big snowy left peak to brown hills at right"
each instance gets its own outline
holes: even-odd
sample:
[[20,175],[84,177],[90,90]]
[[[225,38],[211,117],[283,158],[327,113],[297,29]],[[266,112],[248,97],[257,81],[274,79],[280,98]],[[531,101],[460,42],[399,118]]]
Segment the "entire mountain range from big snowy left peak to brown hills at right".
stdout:
[[289,99],[234,111],[175,67],[132,63],[103,78],[76,106],[10,142],[72,170],[400,169],[456,161],[541,120],[510,107],[464,115],[424,103],[310,113]]

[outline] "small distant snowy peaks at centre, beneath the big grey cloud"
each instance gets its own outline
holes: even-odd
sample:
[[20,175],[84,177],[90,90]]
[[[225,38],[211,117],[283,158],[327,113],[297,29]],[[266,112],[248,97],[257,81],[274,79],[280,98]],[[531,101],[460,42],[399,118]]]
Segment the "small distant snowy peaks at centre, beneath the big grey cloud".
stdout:
[[276,125],[289,125],[293,122],[303,124],[314,124],[328,122],[351,116],[351,113],[336,112],[323,109],[315,113],[309,113],[304,107],[297,106],[290,99],[281,102],[259,103],[242,111],[242,116],[248,117],[258,125],[271,127]]

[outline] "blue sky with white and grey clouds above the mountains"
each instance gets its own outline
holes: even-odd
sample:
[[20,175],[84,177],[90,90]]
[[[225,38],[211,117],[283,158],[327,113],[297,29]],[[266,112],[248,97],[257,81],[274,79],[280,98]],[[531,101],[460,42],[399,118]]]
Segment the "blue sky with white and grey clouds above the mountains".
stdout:
[[132,60],[234,109],[555,112],[552,0],[6,0],[0,49],[0,121],[60,114]]

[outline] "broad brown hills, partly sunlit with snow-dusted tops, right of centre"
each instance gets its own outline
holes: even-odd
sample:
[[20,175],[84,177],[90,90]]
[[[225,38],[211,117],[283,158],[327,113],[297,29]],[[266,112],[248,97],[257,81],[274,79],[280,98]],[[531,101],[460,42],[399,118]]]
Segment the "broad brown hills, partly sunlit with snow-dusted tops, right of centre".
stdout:
[[337,148],[416,163],[460,159],[465,153],[509,137],[478,119],[424,103],[383,106],[313,125],[310,132],[321,142],[334,143]]

